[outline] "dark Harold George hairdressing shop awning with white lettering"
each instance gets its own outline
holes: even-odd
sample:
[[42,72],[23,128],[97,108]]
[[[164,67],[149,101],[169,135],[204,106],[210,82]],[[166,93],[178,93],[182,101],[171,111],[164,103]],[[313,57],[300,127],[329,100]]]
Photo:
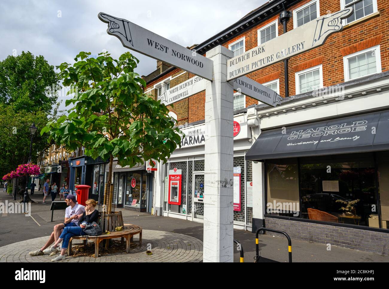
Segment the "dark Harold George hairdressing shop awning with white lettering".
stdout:
[[389,110],[262,131],[247,160],[389,149]]

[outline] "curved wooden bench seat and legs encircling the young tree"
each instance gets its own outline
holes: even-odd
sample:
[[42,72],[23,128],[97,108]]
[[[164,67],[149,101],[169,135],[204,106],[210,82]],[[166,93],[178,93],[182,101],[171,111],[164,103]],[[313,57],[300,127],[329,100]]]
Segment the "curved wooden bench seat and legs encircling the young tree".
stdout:
[[69,240],[68,245],[68,256],[72,254],[72,240],[84,240],[84,246],[88,240],[92,240],[95,243],[95,258],[98,257],[98,251],[100,247],[100,242],[105,239],[116,239],[121,238],[123,244],[124,238],[126,239],[126,253],[130,253],[130,245],[133,235],[139,234],[139,246],[142,246],[142,227],[132,224],[124,224],[123,230],[113,231],[109,234],[103,233],[100,236],[73,236]]

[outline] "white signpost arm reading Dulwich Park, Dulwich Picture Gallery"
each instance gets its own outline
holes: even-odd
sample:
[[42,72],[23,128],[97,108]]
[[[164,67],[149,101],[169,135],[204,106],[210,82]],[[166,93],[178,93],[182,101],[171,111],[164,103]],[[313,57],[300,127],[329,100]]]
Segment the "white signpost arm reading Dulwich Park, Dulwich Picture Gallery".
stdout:
[[227,63],[227,80],[254,72],[294,55],[323,45],[334,32],[342,31],[342,19],[352,13],[346,8],[312,20],[298,28],[259,45]]

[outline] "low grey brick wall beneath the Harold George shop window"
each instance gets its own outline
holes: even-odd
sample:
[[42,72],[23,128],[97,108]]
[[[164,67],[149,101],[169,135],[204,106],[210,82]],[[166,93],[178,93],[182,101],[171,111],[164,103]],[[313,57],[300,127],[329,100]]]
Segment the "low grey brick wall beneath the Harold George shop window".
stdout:
[[268,217],[265,224],[266,228],[284,231],[293,239],[389,255],[389,233]]

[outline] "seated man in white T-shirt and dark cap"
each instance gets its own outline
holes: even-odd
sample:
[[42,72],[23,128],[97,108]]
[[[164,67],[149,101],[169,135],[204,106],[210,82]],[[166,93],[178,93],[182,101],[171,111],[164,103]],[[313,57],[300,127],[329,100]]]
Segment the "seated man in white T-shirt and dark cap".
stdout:
[[35,251],[31,251],[31,256],[39,256],[43,255],[44,253],[50,254],[53,252],[60,251],[60,247],[55,248],[53,246],[49,247],[53,242],[56,242],[58,240],[58,237],[60,237],[61,232],[63,228],[65,227],[71,227],[71,226],[79,226],[80,218],[82,217],[82,214],[85,212],[85,208],[83,205],[77,204],[77,201],[75,199],[74,195],[68,195],[65,199],[65,202],[69,207],[65,210],[65,223],[61,223],[54,226],[54,231],[51,233],[49,240],[47,240],[46,244]]

